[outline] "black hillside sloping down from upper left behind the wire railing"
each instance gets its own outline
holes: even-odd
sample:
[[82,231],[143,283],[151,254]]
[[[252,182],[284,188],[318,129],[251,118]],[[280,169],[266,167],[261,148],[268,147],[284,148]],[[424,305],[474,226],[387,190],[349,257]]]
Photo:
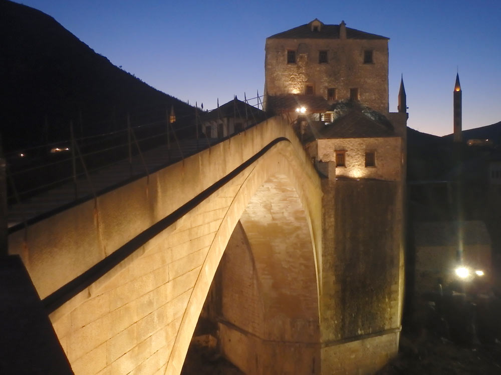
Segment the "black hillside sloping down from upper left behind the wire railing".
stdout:
[[76,135],[102,133],[194,113],[188,104],[160,92],[113,65],[51,16],[0,0],[0,114],[7,151]]

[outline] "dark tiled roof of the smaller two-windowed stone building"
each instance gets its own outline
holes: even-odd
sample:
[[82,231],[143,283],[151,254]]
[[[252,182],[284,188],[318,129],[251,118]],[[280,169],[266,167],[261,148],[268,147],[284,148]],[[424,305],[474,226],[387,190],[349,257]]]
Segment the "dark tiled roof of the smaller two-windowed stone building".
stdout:
[[383,120],[376,120],[360,110],[353,109],[332,123],[315,129],[313,136],[317,139],[395,136],[391,123],[386,117],[381,117]]

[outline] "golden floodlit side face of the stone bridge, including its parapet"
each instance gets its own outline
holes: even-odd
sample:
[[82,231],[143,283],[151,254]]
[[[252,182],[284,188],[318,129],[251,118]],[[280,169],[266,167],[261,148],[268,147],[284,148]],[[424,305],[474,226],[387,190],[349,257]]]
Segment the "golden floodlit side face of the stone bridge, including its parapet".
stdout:
[[[298,263],[308,263],[316,304],[301,303],[305,321],[318,327],[320,181],[280,118],[11,233],[10,252],[22,256],[52,310],[75,373],[179,373],[230,235],[240,220],[259,247],[264,231],[253,229],[253,198],[267,201],[272,187],[288,191],[308,226],[300,242],[307,255]],[[272,297],[275,305],[285,300]],[[273,341],[273,334],[262,338]],[[318,336],[304,341],[317,355]]]

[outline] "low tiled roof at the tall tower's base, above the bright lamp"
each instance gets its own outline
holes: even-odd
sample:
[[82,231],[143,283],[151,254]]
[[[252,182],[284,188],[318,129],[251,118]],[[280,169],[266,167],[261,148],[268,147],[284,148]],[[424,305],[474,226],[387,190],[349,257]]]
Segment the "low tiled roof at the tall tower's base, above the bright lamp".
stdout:
[[292,112],[304,106],[308,112],[325,112],[330,104],[323,96],[316,95],[268,95],[267,110]]

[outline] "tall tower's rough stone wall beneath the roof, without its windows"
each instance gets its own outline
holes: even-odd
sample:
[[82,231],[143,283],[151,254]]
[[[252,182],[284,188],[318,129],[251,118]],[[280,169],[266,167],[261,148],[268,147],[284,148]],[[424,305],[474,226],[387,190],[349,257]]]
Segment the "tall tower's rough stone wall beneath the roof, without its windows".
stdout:
[[[373,63],[364,63],[364,50],[373,51]],[[297,52],[297,62],[287,63],[287,51]],[[328,51],[328,63],[319,63],[319,50]],[[304,94],[306,83],[327,99],[335,87],[337,100],[349,99],[358,87],[360,101],[388,112],[388,40],[290,39],[266,40],[265,92],[269,95]]]

